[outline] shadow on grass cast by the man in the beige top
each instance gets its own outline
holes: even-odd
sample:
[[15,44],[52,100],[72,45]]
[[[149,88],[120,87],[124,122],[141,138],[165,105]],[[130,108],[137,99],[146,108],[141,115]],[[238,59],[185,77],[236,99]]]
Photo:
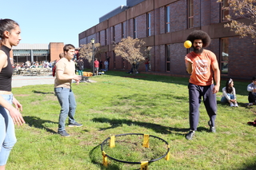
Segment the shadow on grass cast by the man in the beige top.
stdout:
[[39,117],[23,117],[23,118],[24,118],[24,121],[26,121],[26,124],[30,125],[31,127],[46,129],[47,132],[51,132],[54,134],[57,133],[50,128],[46,128],[44,124],[45,123],[58,124],[58,122],[42,120]]

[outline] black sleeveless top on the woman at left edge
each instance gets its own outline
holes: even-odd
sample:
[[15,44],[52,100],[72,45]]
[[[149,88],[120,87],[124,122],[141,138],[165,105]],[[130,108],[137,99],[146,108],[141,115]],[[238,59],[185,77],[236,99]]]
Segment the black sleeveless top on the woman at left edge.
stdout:
[[14,69],[10,63],[10,50],[5,45],[2,45],[0,49],[6,53],[8,65],[5,68],[2,68],[0,72],[0,90],[2,91],[11,91],[11,77],[13,75]]

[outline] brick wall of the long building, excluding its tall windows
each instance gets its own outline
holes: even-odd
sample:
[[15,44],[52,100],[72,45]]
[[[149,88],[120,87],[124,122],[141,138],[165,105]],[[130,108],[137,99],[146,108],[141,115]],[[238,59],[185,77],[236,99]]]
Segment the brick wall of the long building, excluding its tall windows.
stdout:
[[[154,4],[154,7],[152,7]],[[166,33],[166,6],[170,5],[170,33]],[[155,9],[154,9],[155,8]],[[146,10],[148,9],[148,10]],[[153,9],[153,10],[152,10]],[[110,69],[130,69],[130,64],[123,64],[121,57],[114,57],[113,30],[115,28],[115,42],[122,39],[122,22],[124,23],[125,38],[134,37],[133,18],[137,19],[137,37],[146,42],[151,49],[151,72],[171,75],[187,76],[184,57],[186,49],[183,42],[193,30],[204,30],[210,34],[212,41],[209,47],[216,54],[221,65],[221,38],[229,38],[229,77],[250,78],[254,74],[256,64],[256,48],[250,38],[238,38],[234,32],[227,30],[220,22],[220,4],[216,0],[194,0],[194,28],[186,29],[187,1],[186,0],[146,0],[121,14],[99,23],[89,30],[79,34],[80,43],[90,42],[90,38],[97,38],[100,32],[100,42],[103,46],[102,56],[110,56]],[[151,14],[151,36],[147,37],[147,13]],[[124,17],[125,16],[125,17]],[[124,21],[127,18],[127,21]],[[111,25],[109,25],[109,24]],[[107,28],[110,26],[110,28]],[[95,29],[97,28],[97,29]],[[105,35],[106,29],[106,35]],[[105,43],[107,39],[107,43]],[[166,72],[166,45],[170,44],[170,72]],[[114,68],[115,65],[115,68]],[[141,66],[139,70],[145,70]]]

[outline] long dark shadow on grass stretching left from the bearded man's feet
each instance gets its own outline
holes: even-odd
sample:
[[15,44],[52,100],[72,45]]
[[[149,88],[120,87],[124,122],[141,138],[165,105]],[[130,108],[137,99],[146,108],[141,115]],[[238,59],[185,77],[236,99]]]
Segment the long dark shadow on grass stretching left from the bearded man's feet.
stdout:
[[174,131],[174,132],[177,132],[178,135],[182,135],[182,136],[184,135],[184,133],[182,133],[182,132],[187,132],[189,130],[188,128],[171,128],[171,127],[166,127],[166,126],[153,124],[153,123],[147,123],[147,122],[141,122],[141,121],[130,121],[127,119],[108,119],[106,117],[94,118],[94,119],[92,119],[92,121],[101,122],[101,123],[109,123],[111,125],[111,127],[109,127],[109,128],[100,128],[100,130],[117,128],[118,126],[121,126],[122,124],[138,125],[138,126],[142,126],[145,128],[151,128],[152,130],[154,130],[154,132],[159,132],[162,134],[169,134],[169,133],[173,133],[172,131]]

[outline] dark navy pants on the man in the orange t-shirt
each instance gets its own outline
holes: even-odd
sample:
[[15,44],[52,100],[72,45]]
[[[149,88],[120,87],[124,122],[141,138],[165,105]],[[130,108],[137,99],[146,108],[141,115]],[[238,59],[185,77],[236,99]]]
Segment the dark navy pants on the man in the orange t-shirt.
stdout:
[[214,84],[207,86],[189,84],[189,98],[190,98],[190,129],[196,131],[199,121],[199,106],[202,98],[206,107],[208,116],[210,117],[211,125],[215,125],[217,114],[216,94],[213,93]]

